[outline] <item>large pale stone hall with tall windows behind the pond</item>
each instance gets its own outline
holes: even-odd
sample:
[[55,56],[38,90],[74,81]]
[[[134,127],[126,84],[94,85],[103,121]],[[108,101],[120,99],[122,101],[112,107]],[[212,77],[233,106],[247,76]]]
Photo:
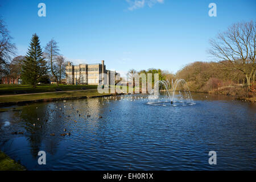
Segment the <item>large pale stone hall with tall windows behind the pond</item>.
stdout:
[[66,67],[66,82],[73,85],[102,85],[103,83],[112,85],[117,74],[115,71],[106,69],[104,60],[101,61],[101,64],[72,65],[69,62]]

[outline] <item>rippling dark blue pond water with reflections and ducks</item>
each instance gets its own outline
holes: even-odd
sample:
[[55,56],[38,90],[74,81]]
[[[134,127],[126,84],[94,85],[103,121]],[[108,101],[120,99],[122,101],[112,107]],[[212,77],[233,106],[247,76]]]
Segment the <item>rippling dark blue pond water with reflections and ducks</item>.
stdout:
[[177,97],[173,105],[136,94],[15,106],[0,113],[0,150],[30,170],[256,169],[255,104]]

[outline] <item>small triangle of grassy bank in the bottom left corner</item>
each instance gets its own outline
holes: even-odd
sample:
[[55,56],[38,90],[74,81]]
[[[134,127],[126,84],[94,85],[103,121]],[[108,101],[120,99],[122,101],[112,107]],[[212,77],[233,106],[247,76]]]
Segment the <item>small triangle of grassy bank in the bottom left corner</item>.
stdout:
[[0,171],[24,171],[25,167],[16,163],[13,159],[9,158],[5,153],[0,151]]

